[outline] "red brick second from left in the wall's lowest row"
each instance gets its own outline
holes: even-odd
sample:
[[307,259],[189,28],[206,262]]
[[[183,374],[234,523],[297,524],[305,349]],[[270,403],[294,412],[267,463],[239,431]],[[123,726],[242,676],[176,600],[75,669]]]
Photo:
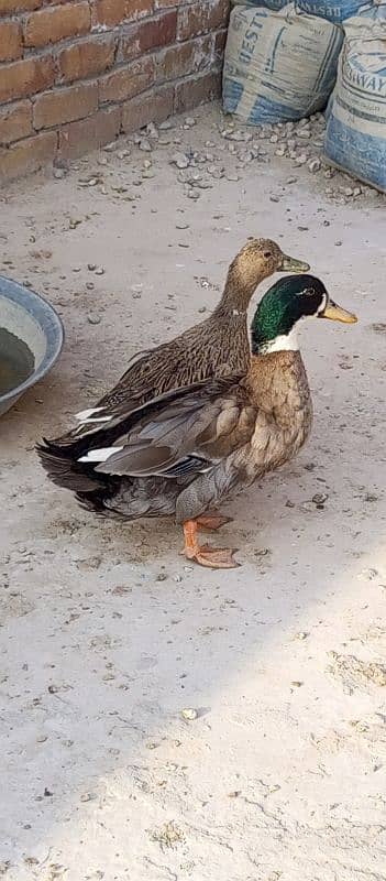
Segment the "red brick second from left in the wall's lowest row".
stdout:
[[64,157],[81,156],[90,150],[108,144],[118,137],[121,128],[121,108],[98,110],[92,117],[64,126],[59,132],[59,152]]

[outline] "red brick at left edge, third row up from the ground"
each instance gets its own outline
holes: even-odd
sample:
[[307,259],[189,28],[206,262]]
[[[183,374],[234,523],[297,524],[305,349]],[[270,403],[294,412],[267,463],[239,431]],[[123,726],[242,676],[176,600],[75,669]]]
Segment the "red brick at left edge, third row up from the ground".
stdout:
[[0,102],[25,98],[48,89],[55,77],[53,58],[24,58],[3,65],[0,76]]

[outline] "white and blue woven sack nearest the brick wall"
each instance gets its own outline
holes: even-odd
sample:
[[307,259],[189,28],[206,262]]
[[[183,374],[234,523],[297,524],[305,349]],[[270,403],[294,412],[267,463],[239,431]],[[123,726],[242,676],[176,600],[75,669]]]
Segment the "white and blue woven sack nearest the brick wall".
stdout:
[[223,107],[249,124],[285,122],[326,107],[333,88],[342,33],[297,14],[234,7],[223,68]]

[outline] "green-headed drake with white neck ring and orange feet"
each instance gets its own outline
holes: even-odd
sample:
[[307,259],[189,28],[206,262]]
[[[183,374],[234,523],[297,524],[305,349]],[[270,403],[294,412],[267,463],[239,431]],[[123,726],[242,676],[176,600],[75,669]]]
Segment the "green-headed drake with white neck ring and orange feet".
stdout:
[[199,530],[230,522],[218,513],[222,501],[283,466],[307,440],[312,403],[297,330],[311,317],[357,320],[320,279],[280,279],[255,311],[243,376],[164,392],[93,435],[44,440],[43,467],[85,508],[129,521],[174,516],[188,559],[213,569],[238,566],[232,548],[200,544]]

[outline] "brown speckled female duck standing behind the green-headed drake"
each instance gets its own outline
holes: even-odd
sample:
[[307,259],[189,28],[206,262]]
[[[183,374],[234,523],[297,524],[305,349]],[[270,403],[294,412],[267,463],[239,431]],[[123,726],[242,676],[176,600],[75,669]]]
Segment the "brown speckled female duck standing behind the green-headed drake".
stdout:
[[246,312],[257,285],[274,272],[307,272],[308,263],[284,254],[271,239],[250,239],[232,261],[222,297],[206,320],[134,356],[118,384],[77,414],[78,434],[98,429],[157,394],[208,377],[244,373],[250,358]]

